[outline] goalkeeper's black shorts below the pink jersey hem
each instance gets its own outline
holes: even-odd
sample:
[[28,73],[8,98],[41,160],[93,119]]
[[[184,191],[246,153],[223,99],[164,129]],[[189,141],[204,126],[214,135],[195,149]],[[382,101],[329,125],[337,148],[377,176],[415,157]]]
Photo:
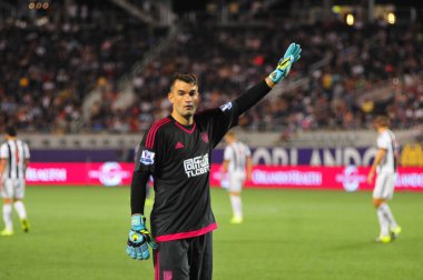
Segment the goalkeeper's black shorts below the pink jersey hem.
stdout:
[[155,280],[212,280],[213,236],[160,242],[154,250]]

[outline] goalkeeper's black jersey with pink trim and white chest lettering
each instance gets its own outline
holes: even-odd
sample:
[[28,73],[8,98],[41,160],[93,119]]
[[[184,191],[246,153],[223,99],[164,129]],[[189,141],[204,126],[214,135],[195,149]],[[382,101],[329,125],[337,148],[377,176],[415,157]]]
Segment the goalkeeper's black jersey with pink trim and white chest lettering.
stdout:
[[190,238],[216,229],[212,212],[212,150],[237,124],[236,107],[195,114],[191,126],[170,116],[146,131],[136,157],[136,171],[153,174],[155,204],[150,222],[157,241]]

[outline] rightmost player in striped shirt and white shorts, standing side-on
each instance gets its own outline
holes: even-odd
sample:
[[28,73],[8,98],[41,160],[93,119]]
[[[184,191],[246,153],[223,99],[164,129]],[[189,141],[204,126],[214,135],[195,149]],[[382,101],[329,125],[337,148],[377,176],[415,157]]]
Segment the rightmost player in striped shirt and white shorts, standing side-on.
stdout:
[[373,189],[373,204],[377,211],[381,233],[376,238],[376,242],[388,243],[401,233],[401,227],[396,223],[386,202],[394,194],[399,144],[395,134],[390,130],[387,117],[378,116],[373,123],[378,133],[377,153],[368,172],[367,181],[373,183],[374,174],[377,171]]

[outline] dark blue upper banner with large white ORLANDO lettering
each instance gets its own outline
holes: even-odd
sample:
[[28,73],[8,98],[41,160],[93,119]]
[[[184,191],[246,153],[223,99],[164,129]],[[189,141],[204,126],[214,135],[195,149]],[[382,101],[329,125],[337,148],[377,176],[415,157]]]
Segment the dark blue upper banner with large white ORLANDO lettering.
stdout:
[[[420,147],[404,146],[401,162],[404,167],[423,167],[423,151]],[[375,147],[342,148],[281,148],[258,147],[252,149],[255,164],[265,166],[312,166],[312,167],[367,167],[376,154]],[[222,163],[224,149],[213,151],[212,163]],[[32,162],[132,162],[134,149],[101,150],[31,150]]]

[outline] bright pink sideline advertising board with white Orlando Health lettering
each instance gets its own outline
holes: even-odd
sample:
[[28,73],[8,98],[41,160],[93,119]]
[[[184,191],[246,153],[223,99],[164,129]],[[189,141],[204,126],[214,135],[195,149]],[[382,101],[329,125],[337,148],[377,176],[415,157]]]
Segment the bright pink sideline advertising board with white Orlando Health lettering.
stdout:
[[[129,186],[134,163],[30,163],[27,182],[69,186]],[[368,168],[348,167],[269,167],[256,166],[247,188],[344,189],[372,190],[366,176]],[[220,184],[220,164],[212,164],[210,184]],[[423,191],[423,168],[400,168],[397,190]]]

